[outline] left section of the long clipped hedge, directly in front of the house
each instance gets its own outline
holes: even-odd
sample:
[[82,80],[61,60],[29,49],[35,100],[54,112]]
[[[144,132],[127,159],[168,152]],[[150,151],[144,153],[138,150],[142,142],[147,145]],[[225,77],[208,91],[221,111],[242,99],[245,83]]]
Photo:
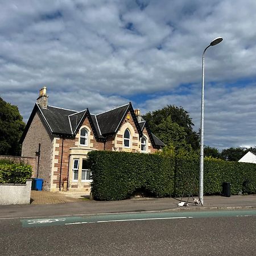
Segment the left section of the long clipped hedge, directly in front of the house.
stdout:
[[96,200],[123,200],[136,192],[155,197],[173,193],[172,159],[112,151],[91,151],[88,156]]

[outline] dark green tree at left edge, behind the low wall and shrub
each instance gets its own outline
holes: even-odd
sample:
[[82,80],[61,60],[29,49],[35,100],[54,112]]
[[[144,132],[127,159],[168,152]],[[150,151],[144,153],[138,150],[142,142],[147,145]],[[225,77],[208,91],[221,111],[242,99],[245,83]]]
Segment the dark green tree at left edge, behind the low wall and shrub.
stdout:
[[19,144],[25,123],[17,106],[0,97],[0,155],[20,155]]

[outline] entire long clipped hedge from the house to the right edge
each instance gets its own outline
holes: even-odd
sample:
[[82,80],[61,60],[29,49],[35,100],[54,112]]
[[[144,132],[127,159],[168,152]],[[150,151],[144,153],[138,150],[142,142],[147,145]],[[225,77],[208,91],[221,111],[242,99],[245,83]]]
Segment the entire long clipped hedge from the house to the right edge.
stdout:
[[[199,191],[199,159],[156,154],[91,151],[92,193],[96,200],[123,200],[134,195],[188,196]],[[231,194],[256,193],[256,164],[204,160],[204,194],[220,195],[229,181]]]

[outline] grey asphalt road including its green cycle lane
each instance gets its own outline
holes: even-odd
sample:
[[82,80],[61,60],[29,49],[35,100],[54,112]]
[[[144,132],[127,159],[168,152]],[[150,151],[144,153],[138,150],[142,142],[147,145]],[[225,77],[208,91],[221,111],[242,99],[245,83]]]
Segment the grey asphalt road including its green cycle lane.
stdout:
[[0,220],[1,255],[255,255],[256,210]]

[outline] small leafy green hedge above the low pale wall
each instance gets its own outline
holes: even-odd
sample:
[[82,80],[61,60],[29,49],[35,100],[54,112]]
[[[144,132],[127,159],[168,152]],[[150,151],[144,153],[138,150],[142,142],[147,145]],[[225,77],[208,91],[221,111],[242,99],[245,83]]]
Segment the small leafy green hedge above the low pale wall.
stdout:
[[24,184],[32,176],[32,167],[27,164],[0,163],[0,183]]

